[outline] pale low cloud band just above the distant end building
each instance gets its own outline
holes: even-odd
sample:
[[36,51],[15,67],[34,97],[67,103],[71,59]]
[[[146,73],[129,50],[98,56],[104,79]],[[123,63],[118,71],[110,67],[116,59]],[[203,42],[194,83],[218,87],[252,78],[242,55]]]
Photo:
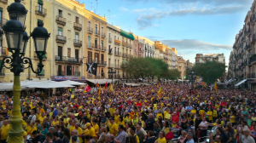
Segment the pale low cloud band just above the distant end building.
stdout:
[[166,44],[168,47],[177,48],[179,52],[188,52],[188,51],[213,51],[213,50],[232,50],[230,45],[222,45],[215,43],[207,43],[200,40],[194,39],[183,39],[183,40],[162,40],[162,43]]

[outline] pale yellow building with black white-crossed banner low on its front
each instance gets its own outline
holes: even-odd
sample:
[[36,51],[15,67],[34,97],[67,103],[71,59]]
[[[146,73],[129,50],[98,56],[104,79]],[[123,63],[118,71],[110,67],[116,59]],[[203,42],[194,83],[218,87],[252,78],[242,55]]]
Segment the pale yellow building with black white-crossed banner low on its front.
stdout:
[[97,63],[97,75],[86,72],[89,79],[106,78],[107,76],[107,19],[84,9],[84,63]]

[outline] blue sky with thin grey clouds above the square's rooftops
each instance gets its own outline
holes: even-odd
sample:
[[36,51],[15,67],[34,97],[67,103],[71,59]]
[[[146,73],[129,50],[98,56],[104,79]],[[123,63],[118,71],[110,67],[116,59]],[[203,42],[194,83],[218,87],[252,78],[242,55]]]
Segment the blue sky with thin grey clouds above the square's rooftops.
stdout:
[[[253,0],[80,0],[108,23],[138,36],[177,48],[195,62],[195,54],[222,54],[228,64],[236,34]],[[110,10],[110,14],[108,12]],[[110,15],[110,16],[109,16]]]

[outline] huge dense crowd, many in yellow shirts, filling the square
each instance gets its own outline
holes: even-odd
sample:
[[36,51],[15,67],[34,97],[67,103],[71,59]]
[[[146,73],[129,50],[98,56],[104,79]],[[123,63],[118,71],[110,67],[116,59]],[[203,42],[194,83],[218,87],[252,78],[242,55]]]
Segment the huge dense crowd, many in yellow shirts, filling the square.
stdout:
[[[188,83],[116,86],[94,93],[73,88],[46,99],[23,94],[24,142],[255,143],[252,91],[192,88]],[[12,100],[0,95],[1,143],[8,141]]]

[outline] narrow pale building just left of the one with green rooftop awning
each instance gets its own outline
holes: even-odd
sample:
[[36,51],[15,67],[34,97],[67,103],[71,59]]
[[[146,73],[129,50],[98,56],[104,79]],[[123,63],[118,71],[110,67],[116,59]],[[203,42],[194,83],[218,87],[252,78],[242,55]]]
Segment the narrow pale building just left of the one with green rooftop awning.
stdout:
[[[107,66],[108,71],[111,71],[113,68],[115,75],[113,75],[114,79],[119,79],[121,72],[121,64],[122,64],[122,56],[121,56],[121,35],[120,35],[120,27],[112,26],[110,24],[107,25],[107,41],[108,41],[108,54],[107,54]],[[112,78],[108,75],[108,78]]]

